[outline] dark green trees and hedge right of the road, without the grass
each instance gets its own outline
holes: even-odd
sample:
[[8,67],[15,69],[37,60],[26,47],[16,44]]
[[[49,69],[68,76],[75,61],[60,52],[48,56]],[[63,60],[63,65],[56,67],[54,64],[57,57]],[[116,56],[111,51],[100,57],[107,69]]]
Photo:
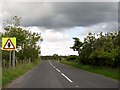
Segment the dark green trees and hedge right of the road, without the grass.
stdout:
[[[120,31],[100,34],[89,33],[81,42],[75,37],[73,47],[79,56],[75,59],[81,64],[117,68],[120,65]],[[70,59],[69,59],[70,60]]]

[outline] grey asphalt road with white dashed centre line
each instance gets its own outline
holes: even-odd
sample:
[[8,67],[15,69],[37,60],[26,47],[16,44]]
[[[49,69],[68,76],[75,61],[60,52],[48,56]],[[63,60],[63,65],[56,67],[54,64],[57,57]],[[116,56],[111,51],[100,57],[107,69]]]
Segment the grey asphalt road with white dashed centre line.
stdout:
[[117,88],[118,81],[46,60],[7,88]]

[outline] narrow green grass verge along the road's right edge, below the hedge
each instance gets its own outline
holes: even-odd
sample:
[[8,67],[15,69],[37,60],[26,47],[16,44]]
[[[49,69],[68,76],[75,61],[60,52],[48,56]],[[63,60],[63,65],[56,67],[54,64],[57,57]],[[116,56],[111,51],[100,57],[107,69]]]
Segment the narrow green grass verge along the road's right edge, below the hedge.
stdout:
[[77,62],[67,61],[67,60],[62,60],[61,63],[67,64],[67,65],[70,65],[70,66],[73,66],[73,67],[76,67],[76,68],[79,68],[81,70],[85,70],[88,72],[110,77],[115,80],[120,80],[120,78],[118,77],[120,75],[120,72],[118,72],[118,69],[113,69],[113,68],[108,68],[108,67],[97,67],[97,66],[91,66],[91,65],[83,65]]

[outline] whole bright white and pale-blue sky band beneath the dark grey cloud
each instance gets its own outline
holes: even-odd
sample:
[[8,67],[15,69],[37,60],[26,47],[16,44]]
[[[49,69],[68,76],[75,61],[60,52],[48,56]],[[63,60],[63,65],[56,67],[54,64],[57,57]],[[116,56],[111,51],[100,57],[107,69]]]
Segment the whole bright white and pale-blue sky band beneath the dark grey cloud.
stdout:
[[78,37],[81,41],[84,41],[84,37],[86,37],[89,32],[98,34],[100,32],[117,30],[117,27],[117,22],[111,22],[101,23],[91,27],[74,27],[61,32],[37,26],[28,28],[32,32],[41,33],[43,42],[39,42],[39,45],[41,46],[42,55],[78,55],[77,52],[70,49],[74,44],[73,37]]

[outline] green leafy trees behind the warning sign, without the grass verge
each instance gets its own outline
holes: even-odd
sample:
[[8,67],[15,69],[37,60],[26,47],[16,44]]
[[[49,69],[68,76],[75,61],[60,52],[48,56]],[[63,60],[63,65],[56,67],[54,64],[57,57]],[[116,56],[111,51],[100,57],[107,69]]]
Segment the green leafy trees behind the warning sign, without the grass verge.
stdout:
[[[4,26],[2,37],[16,38],[16,60],[21,63],[35,62],[41,51],[38,41],[42,41],[41,35],[32,33],[20,27],[21,17],[13,16]],[[9,51],[2,51],[2,60],[9,62]]]

